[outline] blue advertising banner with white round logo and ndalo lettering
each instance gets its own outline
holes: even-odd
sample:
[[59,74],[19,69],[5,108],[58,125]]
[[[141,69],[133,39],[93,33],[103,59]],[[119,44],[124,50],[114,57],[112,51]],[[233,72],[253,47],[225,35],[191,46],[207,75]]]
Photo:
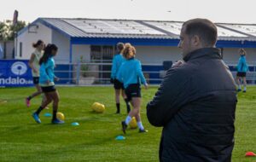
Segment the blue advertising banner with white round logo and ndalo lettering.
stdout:
[[28,61],[0,60],[0,87],[32,86],[32,72]]

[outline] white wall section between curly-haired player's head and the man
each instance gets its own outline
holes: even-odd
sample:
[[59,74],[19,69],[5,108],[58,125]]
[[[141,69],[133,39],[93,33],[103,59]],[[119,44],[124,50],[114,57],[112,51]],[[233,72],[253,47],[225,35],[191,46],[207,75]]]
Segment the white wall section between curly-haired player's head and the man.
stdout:
[[137,49],[136,58],[142,64],[163,64],[163,61],[172,61],[182,59],[181,51],[177,47],[161,47],[161,46],[135,46]]

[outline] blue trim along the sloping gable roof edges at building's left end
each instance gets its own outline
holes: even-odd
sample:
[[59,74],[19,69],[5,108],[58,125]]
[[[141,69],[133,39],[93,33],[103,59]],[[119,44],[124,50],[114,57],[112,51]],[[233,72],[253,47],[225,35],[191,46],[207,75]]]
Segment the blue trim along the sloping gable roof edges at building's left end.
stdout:
[[[60,32],[61,34],[63,34],[64,36],[66,36],[67,38],[71,38],[71,35],[67,34],[67,32],[64,32],[63,30],[59,29],[58,27],[56,26],[53,26],[51,24],[49,24],[47,21],[45,21],[44,19],[41,19],[41,18],[38,18],[37,20],[33,21],[32,22],[32,25],[33,24],[37,24],[37,23],[41,23],[43,24],[44,26],[47,26],[49,27],[50,29],[53,29],[57,32]],[[24,27],[23,29],[20,30],[20,32],[18,32],[18,36],[20,36],[22,33],[26,32],[28,30],[28,26]]]

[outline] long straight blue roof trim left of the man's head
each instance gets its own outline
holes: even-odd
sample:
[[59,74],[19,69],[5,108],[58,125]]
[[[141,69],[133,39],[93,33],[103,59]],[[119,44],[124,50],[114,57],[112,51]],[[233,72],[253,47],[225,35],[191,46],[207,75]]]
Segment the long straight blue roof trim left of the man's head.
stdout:
[[149,38],[71,38],[73,44],[115,45],[124,42],[133,45],[177,46],[178,39],[149,39]]

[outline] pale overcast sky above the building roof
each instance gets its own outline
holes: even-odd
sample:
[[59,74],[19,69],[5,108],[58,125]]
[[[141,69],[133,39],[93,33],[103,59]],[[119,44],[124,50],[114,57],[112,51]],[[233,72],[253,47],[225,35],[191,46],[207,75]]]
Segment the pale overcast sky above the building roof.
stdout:
[[[3,3],[4,1],[4,3]],[[0,20],[38,17],[189,20],[256,24],[256,0],[2,0]]]

